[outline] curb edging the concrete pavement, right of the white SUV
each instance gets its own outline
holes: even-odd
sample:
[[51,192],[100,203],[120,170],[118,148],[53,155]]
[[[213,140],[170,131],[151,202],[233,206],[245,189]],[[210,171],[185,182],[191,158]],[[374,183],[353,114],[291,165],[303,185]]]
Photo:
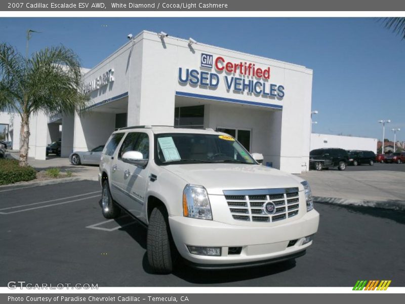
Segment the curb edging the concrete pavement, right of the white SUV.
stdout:
[[357,206],[357,207],[361,206],[361,207],[382,208],[396,211],[405,211],[405,202],[399,200],[373,201],[373,200],[327,198],[317,196],[313,196],[312,198],[315,203],[329,203],[342,206]]

